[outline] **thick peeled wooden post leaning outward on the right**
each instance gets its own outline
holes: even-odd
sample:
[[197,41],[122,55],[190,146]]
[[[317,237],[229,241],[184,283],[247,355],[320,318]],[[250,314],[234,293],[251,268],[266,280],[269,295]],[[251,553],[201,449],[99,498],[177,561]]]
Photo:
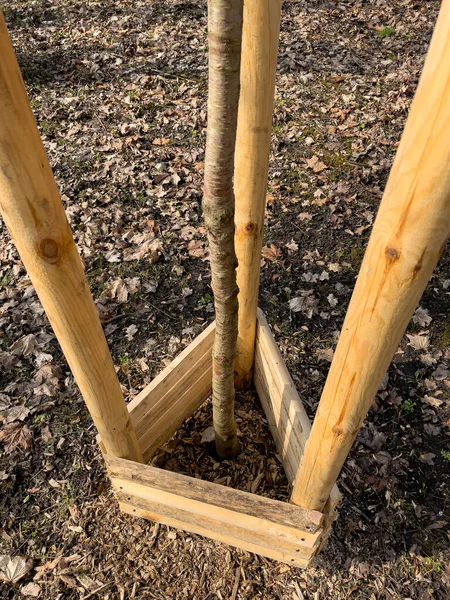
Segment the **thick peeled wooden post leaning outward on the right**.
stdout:
[[450,233],[444,0],[291,501],[322,510]]

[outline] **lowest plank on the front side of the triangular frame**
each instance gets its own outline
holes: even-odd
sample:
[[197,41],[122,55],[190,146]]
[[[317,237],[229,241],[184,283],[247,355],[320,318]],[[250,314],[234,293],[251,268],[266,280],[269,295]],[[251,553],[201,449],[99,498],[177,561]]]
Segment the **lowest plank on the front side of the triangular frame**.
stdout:
[[[169,525],[171,527],[176,527],[177,529],[182,529],[184,531],[188,531],[190,533],[196,533],[198,535],[202,535],[204,537],[211,538],[223,544],[227,544],[233,546],[235,548],[240,548],[242,550],[246,550],[247,552],[253,552],[255,554],[259,554],[261,556],[266,556],[267,558],[271,558],[274,560],[279,560],[281,562],[288,563],[292,566],[306,568],[310,564],[311,559],[306,559],[303,557],[295,556],[280,552],[275,548],[267,548],[264,546],[260,546],[247,540],[241,540],[230,536],[227,533],[222,533],[219,531],[213,531],[211,526],[206,528],[203,526],[203,522],[199,521],[197,523],[192,523],[188,521],[183,521],[174,517],[170,517],[167,514],[161,514],[158,510],[149,510],[148,508],[140,506],[139,501],[134,502],[133,504],[129,502],[120,502],[120,509],[128,513],[134,517],[141,517],[143,519],[149,519],[151,521],[156,521],[158,523],[163,523],[165,525]],[[152,507],[157,508],[158,507]],[[163,507],[164,509],[164,507]]]

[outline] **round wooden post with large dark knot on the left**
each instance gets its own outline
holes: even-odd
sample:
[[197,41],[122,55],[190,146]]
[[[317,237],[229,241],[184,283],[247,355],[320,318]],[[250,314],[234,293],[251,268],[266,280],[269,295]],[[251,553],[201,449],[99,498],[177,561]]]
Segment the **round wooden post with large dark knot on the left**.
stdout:
[[141,460],[0,13],[0,209],[108,454]]

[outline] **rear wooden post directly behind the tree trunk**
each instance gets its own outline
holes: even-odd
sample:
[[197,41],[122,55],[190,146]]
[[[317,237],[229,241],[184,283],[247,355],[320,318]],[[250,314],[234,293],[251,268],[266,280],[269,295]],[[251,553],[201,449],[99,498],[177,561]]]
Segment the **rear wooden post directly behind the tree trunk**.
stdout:
[[281,0],[245,0],[235,155],[239,330],[235,383],[252,382]]

